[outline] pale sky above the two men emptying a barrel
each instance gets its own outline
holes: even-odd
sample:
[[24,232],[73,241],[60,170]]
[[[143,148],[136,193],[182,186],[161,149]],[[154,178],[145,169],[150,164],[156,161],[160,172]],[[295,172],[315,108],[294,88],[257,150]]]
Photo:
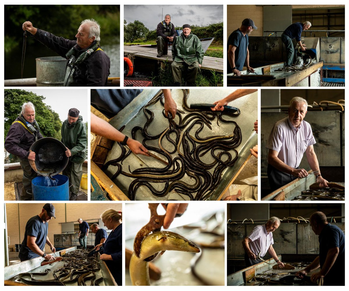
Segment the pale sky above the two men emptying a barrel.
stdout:
[[83,122],[87,121],[88,95],[87,89],[67,89],[66,87],[54,89],[30,89],[36,95],[42,95],[46,99],[43,102],[51,106],[52,110],[59,114],[63,122],[68,117],[70,108],[76,108],[80,111]]

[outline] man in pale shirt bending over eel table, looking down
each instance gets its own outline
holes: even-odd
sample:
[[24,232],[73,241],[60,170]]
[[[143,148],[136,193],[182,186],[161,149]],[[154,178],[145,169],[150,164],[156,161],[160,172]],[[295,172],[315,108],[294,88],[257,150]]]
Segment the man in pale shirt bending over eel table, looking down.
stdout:
[[270,217],[266,224],[257,225],[253,228],[252,232],[243,239],[242,245],[245,249],[246,267],[262,262],[260,258],[263,258],[267,252],[272,256],[279,267],[284,267],[284,263],[277,258],[273,248],[273,232],[279,226],[280,219],[275,216]]

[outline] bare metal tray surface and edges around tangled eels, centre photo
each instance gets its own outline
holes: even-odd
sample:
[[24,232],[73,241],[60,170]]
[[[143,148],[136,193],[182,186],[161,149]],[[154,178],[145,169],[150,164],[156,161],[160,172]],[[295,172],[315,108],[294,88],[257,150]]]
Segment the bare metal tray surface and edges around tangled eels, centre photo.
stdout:
[[[143,90],[143,92],[137,96],[126,108],[121,110],[119,114],[112,118],[109,123],[117,129],[120,129],[121,126],[125,125],[125,129],[122,133],[127,136],[131,136],[131,131],[134,126],[141,126],[143,128],[147,119],[144,116],[142,108],[148,103],[148,101],[158,92],[158,89],[147,89]],[[218,101],[229,95],[232,90],[222,90],[222,89],[191,89],[188,96],[188,106],[191,103],[213,103],[214,101]],[[177,108],[183,110],[183,90],[174,89],[172,90],[172,98],[177,103]],[[238,151],[238,159],[234,166],[225,168],[222,173],[222,182],[220,185],[212,192],[208,200],[218,200],[224,190],[230,185],[233,179],[235,179],[235,175],[238,173],[240,167],[243,166],[244,162],[250,156],[250,148],[257,144],[257,134],[253,131],[253,123],[257,119],[257,98],[258,93],[255,92],[253,94],[249,94],[243,96],[233,102],[230,105],[234,107],[238,107],[241,111],[241,114],[237,117],[225,117],[226,119],[231,119],[235,121],[242,132],[242,143],[235,148]],[[150,134],[158,134],[163,132],[169,125],[168,119],[166,119],[163,114],[163,106],[160,102],[156,102],[155,104],[148,107],[153,110],[155,117],[154,121],[148,127],[148,132]],[[184,111],[184,110],[183,110]],[[184,115],[183,115],[184,117]],[[176,117],[175,121],[178,122],[178,117]],[[200,133],[200,137],[209,137],[215,135],[230,135],[233,132],[235,127],[234,124],[231,123],[222,123],[219,122],[219,126],[217,125],[217,117],[211,121],[212,130],[210,130],[207,126],[204,127],[202,132]],[[198,125],[193,126],[190,131],[192,134],[199,128]],[[140,132],[136,134],[137,140],[142,141],[143,137]],[[150,140],[147,142],[148,145],[158,147],[158,139]],[[162,145],[165,149],[173,150],[174,146],[171,145],[166,139],[163,139]],[[230,151],[232,157],[235,157],[235,153]],[[112,159],[116,159],[120,156],[121,148],[120,145],[114,143],[112,149],[109,151],[106,162]],[[172,154],[172,158],[176,157],[177,152]],[[202,157],[202,161],[205,163],[213,162],[214,159],[211,157],[210,152],[208,152],[204,157]],[[141,168],[141,167],[157,167],[163,168],[164,163],[158,161],[152,157],[146,157],[144,155],[129,155],[122,163],[122,170],[125,172],[129,172],[128,167],[130,167],[131,171]],[[213,173],[214,169],[210,169],[210,172]],[[116,167],[109,166],[105,173],[107,176],[112,177],[116,172]],[[126,177],[123,175],[118,175],[113,182],[117,185],[118,188],[126,195],[128,195],[128,187],[129,184],[134,180],[134,178]],[[185,175],[181,181],[184,181],[188,184],[192,184],[193,181],[190,177]],[[151,183],[153,187],[157,190],[161,190],[164,188],[164,183]],[[170,193],[165,195],[164,197],[156,197],[146,186],[140,186],[135,196],[136,200],[188,200],[189,197],[186,195],[181,195],[176,191],[172,190]]]

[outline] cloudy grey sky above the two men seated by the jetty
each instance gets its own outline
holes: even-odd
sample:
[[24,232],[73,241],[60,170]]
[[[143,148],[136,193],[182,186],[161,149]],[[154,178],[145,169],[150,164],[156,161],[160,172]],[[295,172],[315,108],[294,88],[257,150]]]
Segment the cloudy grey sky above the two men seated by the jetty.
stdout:
[[206,26],[223,22],[223,5],[124,5],[124,19],[127,23],[139,20],[149,30],[156,29],[158,23],[164,20],[165,14],[171,15],[174,26]]

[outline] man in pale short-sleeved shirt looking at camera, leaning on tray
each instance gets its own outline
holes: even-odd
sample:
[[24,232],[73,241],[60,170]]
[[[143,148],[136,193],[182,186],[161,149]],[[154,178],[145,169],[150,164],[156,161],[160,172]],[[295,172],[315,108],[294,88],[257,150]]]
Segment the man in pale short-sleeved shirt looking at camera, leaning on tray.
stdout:
[[299,168],[303,154],[306,154],[310,168],[316,175],[320,187],[328,187],[321,176],[319,162],[314,152],[316,143],[311,126],[303,118],[308,103],[301,97],[293,97],[288,108],[288,117],[276,122],[270,132],[266,148],[268,152],[268,179],[272,191],[295,180],[308,176]]

